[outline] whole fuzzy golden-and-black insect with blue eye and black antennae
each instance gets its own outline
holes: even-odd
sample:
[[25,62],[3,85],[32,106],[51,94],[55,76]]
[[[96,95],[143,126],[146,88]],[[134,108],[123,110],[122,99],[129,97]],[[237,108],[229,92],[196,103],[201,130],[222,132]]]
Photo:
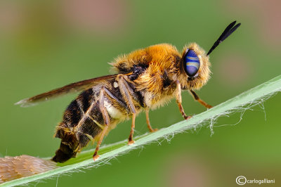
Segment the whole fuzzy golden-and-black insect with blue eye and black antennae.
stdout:
[[141,111],[146,113],[148,129],[155,131],[150,126],[148,111],[176,98],[181,115],[188,120],[190,117],[185,115],[181,103],[182,90],[190,91],[196,101],[211,108],[194,90],[200,89],[209,80],[209,54],[240,26],[240,23],[235,24],[232,22],[226,27],[208,53],[195,43],[185,46],[181,53],[170,44],[149,46],[117,57],[111,63],[116,75],[68,84],[16,104],[27,106],[81,91],[67,107],[62,122],[56,128],[55,137],[61,138],[61,143],[52,160],[69,160],[90,141],[97,142],[93,153],[93,160],[96,160],[104,136],[122,120],[132,119],[128,143],[134,143],[135,119]]

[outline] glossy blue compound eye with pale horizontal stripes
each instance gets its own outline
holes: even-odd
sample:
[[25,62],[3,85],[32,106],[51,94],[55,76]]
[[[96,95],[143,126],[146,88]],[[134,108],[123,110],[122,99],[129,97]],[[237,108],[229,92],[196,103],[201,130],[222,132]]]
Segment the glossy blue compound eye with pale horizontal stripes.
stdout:
[[200,67],[200,60],[192,49],[188,49],[183,58],[183,67],[189,77],[194,77]]

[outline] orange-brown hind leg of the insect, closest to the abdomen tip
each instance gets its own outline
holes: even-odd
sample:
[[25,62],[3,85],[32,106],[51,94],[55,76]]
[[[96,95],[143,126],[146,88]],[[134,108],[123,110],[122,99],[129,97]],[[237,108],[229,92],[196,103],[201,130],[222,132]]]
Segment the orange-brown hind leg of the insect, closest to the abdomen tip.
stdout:
[[98,155],[98,150],[100,149],[100,143],[103,141],[103,137],[105,136],[108,126],[110,124],[110,117],[108,116],[107,110],[105,109],[104,100],[105,100],[105,87],[103,86],[100,89],[99,101],[100,101],[100,112],[103,115],[103,120],[105,121],[105,127],[103,131],[101,131],[100,138],[98,140],[95,153],[93,153],[93,160],[96,161],[100,155]]

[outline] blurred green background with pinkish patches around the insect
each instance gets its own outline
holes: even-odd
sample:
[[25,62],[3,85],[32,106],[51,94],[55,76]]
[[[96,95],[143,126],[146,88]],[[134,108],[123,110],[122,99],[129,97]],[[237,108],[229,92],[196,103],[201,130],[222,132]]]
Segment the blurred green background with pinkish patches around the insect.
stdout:
[[[116,56],[159,43],[182,50],[195,41],[209,50],[233,20],[241,27],[211,54],[212,75],[197,93],[217,105],[280,75],[281,1],[0,1],[0,154],[53,156],[60,140],[55,126],[65,96],[30,108],[13,103],[37,93],[108,75]],[[189,115],[205,108],[182,93]],[[280,103],[278,93],[265,110],[221,117],[214,128],[178,134],[111,160],[111,165],[34,183],[37,186],[237,186],[235,179],[275,179],[280,185]],[[150,112],[152,127],[183,120],[176,102]],[[237,123],[239,122],[239,123]],[[237,123],[237,124],[236,124]],[[236,125],[231,125],[236,124]],[[119,124],[103,144],[129,136],[131,122]],[[136,135],[148,129],[145,115]],[[93,148],[89,146],[88,148]]]

